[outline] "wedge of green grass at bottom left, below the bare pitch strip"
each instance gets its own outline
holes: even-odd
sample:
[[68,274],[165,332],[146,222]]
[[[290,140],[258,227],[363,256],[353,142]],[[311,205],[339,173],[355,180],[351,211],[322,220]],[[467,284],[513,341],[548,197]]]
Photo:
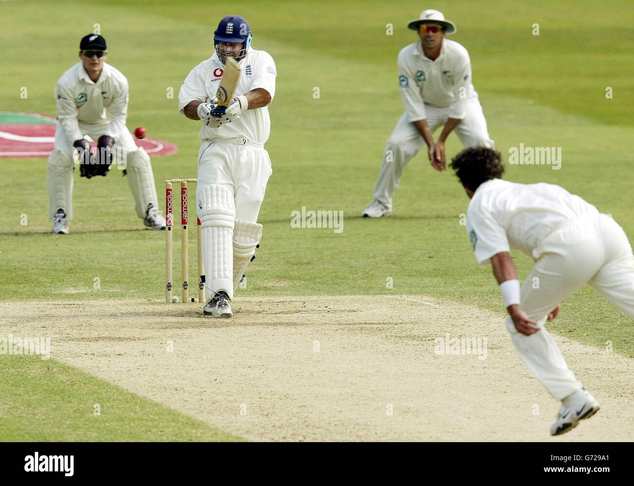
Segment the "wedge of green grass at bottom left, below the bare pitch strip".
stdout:
[[235,441],[231,434],[72,366],[0,355],[3,441]]

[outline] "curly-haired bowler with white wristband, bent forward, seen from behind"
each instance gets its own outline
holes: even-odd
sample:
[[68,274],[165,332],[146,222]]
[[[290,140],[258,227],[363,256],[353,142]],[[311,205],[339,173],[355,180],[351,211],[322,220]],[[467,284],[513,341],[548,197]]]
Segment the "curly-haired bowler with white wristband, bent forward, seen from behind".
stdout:
[[[544,324],[586,283],[634,319],[630,242],[611,217],[566,189],[501,180],[498,152],[468,149],[451,167],[471,197],[467,232],[475,259],[493,265],[515,349],[548,392],[563,402],[550,432],[567,432],[594,414],[598,402],[576,380]],[[535,261],[521,287],[512,248]]]

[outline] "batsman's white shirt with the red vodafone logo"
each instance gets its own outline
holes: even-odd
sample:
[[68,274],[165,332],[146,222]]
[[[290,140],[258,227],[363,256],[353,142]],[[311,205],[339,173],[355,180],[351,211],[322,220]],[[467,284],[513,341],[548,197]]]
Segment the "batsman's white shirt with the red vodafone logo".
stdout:
[[[233,96],[240,96],[261,87],[268,91],[273,101],[277,72],[271,55],[265,51],[249,48],[240,61],[240,67],[240,79]],[[185,106],[195,99],[209,103],[216,96],[223,73],[224,65],[216,53],[193,68],[178,93],[178,108],[181,113]],[[223,124],[219,128],[202,124],[199,137],[201,140],[245,137],[254,142],[266,143],[271,133],[268,105],[255,110],[246,110],[240,114],[240,118],[235,118],[231,123]]]

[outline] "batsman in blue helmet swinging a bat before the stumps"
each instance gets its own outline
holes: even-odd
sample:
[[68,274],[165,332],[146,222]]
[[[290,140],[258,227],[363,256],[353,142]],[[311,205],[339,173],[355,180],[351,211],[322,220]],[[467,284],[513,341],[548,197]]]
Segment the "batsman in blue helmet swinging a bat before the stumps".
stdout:
[[[244,18],[223,18],[214,32],[216,53],[191,70],[178,95],[181,113],[202,121],[196,195],[204,313],[213,317],[233,316],[230,301],[259,246],[257,215],[273,172],[264,143],[271,130],[275,63],[250,42]],[[230,82],[233,75],[237,84]]]

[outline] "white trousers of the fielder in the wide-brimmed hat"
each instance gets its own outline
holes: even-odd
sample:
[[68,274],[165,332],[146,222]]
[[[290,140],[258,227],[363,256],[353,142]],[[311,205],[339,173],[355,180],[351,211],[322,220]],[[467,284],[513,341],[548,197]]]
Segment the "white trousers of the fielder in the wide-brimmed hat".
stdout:
[[[425,103],[429,129],[433,132],[440,125],[446,124],[449,112],[450,106],[438,108]],[[465,147],[495,148],[493,140],[489,137],[482,106],[477,98],[469,99],[466,116],[456,125],[453,131],[456,132]],[[376,200],[382,202],[388,208],[392,208],[392,196],[396,193],[399,182],[401,182],[401,175],[405,166],[424,145],[425,140],[420,135],[420,132],[408,120],[406,113],[403,113],[385,146],[380,174],[374,189],[374,198]]]

